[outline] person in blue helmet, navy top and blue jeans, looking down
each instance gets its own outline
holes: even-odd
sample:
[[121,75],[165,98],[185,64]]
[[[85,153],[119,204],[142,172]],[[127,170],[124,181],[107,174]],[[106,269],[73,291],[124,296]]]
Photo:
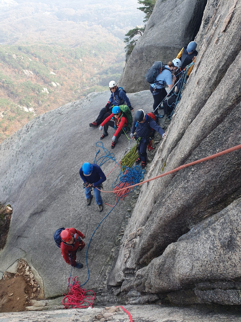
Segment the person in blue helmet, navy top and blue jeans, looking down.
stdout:
[[98,205],[99,211],[102,212],[103,200],[101,197],[100,189],[102,187],[102,183],[106,180],[105,174],[103,173],[101,168],[97,166],[97,164],[90,164],[89,162],[85,162],[79,170],[79,175],[81,176],[81,179],[83,180],[83,185],[85,186],[85,197],[87,206],[91,204],[91,200],[93,198],[91,191],[93,188],[96,204]]

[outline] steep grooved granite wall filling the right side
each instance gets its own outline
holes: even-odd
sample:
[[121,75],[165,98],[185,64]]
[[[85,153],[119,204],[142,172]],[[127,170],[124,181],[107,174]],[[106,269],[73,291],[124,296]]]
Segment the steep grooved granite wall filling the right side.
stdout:
[[[220,2],[206,28],[196,65],[167,136],[152,161],[148,177],[240,144],[241,85],[236,72],[241,68],[241,32],[237,28],[240,23],[237,1]],[[240,217],[236,213],[234,222],[229,223],[229,230],[226,230],[227,219],[223,224],[215,223],[215,220],[218,221],[220,211],[240,196],[240,156],[240,150],[235,151],[143,186],[110,274],[109,285],[121,286],[123,292],[134,289],[141,297],[143,292],[166,294],[192,289],[196,283],[210,279],[221,279],[224,283],[238,279],[234,272],[239,272],[240,267],[240,230],[237,226]],[[185,238],[191,236],[190,229],[204,229],[207,217],[212,218],[213,227],[217,225],[216,233],[222,235],[220,247],[208,237],[207,231],[205,238],[203,235],[203,241],[208,239],[210,247],[216,251],[216,257],[213,255],[212,258],[210,252],[208,259],[205,247],[202,250],[198,245],[188,246],[186,250],[184,247]],[[237,229],[237,237],[233,235],[232,225]],[[125,241],[133,232],[139,233],[130,247]],[[182,251],[178,248],[181,240],[185,240]],[[209,270],[202,269],[205,267],[202,259],[207,260],[205,265],[210,265]],[[191,266],[187,269],[184,264]],[[223,270],[219,270],[220,267]],[[148,279],[142,274],[147,271]],[[217,294],[223,294],[220,298],[214,292],[209,297],[207,288],[200,289],[193,293],[193,301],[205,302],[210,298],[219,304],[239,304],[239,285],[230,289],[226,295],[217,290]]]

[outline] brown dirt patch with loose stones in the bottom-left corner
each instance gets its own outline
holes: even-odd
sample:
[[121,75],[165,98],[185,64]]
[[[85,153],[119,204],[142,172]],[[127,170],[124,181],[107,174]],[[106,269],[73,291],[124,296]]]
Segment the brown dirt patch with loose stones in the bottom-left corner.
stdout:
[[28,263],[20,260],[17,273],[4,272],[0,280],[0,312],[25,311],[30,299],[37,299],[40,287],[35,282]]

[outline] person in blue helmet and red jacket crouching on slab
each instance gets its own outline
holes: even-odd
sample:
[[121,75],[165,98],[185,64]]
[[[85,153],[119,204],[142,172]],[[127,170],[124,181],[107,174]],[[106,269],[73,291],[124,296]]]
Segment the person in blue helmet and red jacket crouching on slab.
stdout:
[[127,117],[125,116],[125,114],[121,113],[120,107],[114,106],[112,108],[112,114],[110,116],[108,116],[101,123],[101,126],[99,129],[100,129],[100,131],[102,131],[102,129],[104,127],[104,130],[103,130],[103,134],[100,137],[100,139],[102,140],[104,137],[107,137],[107,135],[108,135],[107,131],[108,131],[109,126],[116,129],[115,134],[112,137],[111,148],[113,149],[116,145],[117,140],[121,136],[121,133],[123,131],[125,131],[125,133],[126,133],[127,124],[128,124]]

